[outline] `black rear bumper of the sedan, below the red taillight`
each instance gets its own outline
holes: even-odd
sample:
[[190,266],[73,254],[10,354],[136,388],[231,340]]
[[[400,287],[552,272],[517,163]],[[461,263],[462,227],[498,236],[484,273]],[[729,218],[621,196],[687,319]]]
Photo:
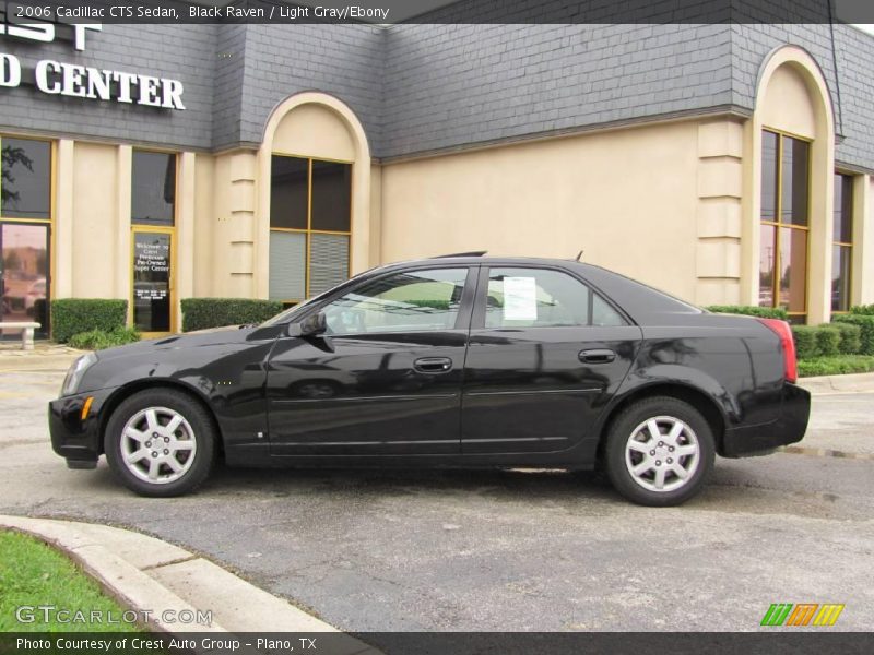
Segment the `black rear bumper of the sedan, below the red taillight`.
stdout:
[[811,417],[811,393],[787,382],[781,401],[777,420],[725,430],[720,454],[724,457],[761,455],[801,441]]

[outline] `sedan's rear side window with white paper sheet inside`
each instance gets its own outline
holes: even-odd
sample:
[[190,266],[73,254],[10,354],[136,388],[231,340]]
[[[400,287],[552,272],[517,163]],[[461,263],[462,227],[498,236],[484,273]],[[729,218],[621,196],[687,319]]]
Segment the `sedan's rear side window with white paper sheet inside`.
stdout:
[[492,269],[485,326],[625,325],[606,301],[579,279],[548,269]]

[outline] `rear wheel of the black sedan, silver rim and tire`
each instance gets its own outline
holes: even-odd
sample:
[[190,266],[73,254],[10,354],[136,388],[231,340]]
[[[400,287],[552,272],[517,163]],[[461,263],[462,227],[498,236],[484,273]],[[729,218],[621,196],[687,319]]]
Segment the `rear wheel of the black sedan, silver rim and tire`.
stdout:
[[[649,420],[656,420],[659,438]],[[678,430],[675,441],[671,441],[673,428]],[[675,455],[684,451],[693,454]],[[713,469],[713,431],[688,403],[670,396],[649,397],[630,405],[613,421],[604,455],[610,481],[625,498],[647,507],[678,505],[701,490]],[[629,467],[642,472],[635,475]],[[659,476],[661,489],[657,488]]]

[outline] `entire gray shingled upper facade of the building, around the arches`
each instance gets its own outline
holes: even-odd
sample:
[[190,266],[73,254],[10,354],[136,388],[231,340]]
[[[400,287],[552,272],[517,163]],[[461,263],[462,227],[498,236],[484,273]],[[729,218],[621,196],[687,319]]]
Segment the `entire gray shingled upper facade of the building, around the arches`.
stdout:
[[[806,0],[805,0],[806,1]],[[832,48],[834,34],[834,48]],[[840,164],[874,170],[874,37],[847,25],[104,25],[87,49],[0,37],[0,51],[179,79],[185,111],[0,88],[0,131],[220,150],[257,145],[277,103],[350,105],[376,157],[735,107],[768,53],[823,69]]]

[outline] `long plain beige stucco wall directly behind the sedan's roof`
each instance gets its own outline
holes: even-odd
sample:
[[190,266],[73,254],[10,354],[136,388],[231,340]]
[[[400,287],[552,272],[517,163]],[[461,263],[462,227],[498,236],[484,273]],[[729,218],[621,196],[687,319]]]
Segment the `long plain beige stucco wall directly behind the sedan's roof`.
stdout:
[[694,301],[702,166],[696,121],[389,164],[381,259],[583,250],[587,262]]

